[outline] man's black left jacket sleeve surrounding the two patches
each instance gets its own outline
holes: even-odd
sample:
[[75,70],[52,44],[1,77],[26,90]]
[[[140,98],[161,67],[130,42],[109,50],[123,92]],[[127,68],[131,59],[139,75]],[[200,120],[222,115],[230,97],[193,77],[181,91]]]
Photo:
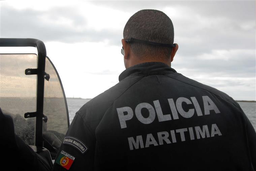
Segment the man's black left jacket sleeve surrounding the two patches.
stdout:
[[[76,147],[69,144],[61,144],[58,154],[55,159],[53,170],[67,170],[64,167],[57,164],[56,161],[61,153],[65,151],[69,155],[72,155],[75,159],[70,167],[72,170],[94,170],[94,155],[95,155],[95,143],[96,139],[93,136],[91,129],[86,125],[86,121],[81,117],[80,113],[77,112],[65,137],[74,137],[80,140],[88,148],[84,153],[78,150]],[[65,138],[64,138],[65,139]]]

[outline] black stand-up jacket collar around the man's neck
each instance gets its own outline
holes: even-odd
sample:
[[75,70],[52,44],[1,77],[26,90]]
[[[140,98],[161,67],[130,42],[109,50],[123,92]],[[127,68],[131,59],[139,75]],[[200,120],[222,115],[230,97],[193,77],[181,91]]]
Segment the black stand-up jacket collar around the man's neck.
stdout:
[[173,68],[161,62],[146,62],[134,65],[124,70],[119,75],[119,81],[125,79],[128,76],[149,76],[149,75],[161,75],[167,73],[176,72]]

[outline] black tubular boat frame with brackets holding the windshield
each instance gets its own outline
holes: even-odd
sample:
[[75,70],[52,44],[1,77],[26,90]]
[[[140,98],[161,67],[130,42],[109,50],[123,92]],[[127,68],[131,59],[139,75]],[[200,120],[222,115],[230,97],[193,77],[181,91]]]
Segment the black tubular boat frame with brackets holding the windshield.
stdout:
[[52,61],[46,56],[46,48],[44,43],[38,39],[32,38],[0,38],[0,47],[36,47],[38,52],[38,60],[37,60],[37,68],[36,69],[26,69],[26,75],[37,75],[37,91],[36,91],[36,111],[35,112],[27,112],[24,114],[25,118],[36,117],[35,123],[35,146],[43,147],[43,136],[42,136],[42,126],[43,120],[45,118],[43,114],[43,99],[44,99],[44,79],[47,79],[47,73],[45,73],[45,58],[47,58],[52,66],[54,67],[57,76],[60,81],[61,89],[64,96],[67,118],[68,118],[68,127],[69,127],[69,114],[67,108],[67,100],[65,96],[65,92],[63,89],[63,85],[59,74],[53,65]]

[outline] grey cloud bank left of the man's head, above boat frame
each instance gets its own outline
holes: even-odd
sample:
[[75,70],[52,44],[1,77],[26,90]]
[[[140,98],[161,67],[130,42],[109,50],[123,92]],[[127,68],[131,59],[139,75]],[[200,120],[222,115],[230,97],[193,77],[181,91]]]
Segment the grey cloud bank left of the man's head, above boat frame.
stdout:
[[[74,9],[57,8],[49,11],[35,11],[33,9],[15,10],[2,7],[1,36],[8,38],[37,38],[42,41],[59,42],[99,42],[105,39],[111,44],[121,44],[121,35],[111,30],[95,31],[92,29],[75,30],[75,27],[84,27],[87,21],[83,16],[76,14]],[[58,23],[46,23],[41,16],[52,19],[60,17],[72,21],[72,27]]]

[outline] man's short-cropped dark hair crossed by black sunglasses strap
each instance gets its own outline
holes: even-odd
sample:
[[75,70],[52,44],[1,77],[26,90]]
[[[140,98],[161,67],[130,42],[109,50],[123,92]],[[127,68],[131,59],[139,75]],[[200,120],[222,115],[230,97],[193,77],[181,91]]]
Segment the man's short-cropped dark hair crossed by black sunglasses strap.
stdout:
[[[173,43],[173,25],[171,19],[162,11],[143,9],[131,16],[124,27],[124,39],[131,37],[157,43]],[[133,42],[130,44],[132,52],[140,59],[169,58],[172,47],[155,46]]]

